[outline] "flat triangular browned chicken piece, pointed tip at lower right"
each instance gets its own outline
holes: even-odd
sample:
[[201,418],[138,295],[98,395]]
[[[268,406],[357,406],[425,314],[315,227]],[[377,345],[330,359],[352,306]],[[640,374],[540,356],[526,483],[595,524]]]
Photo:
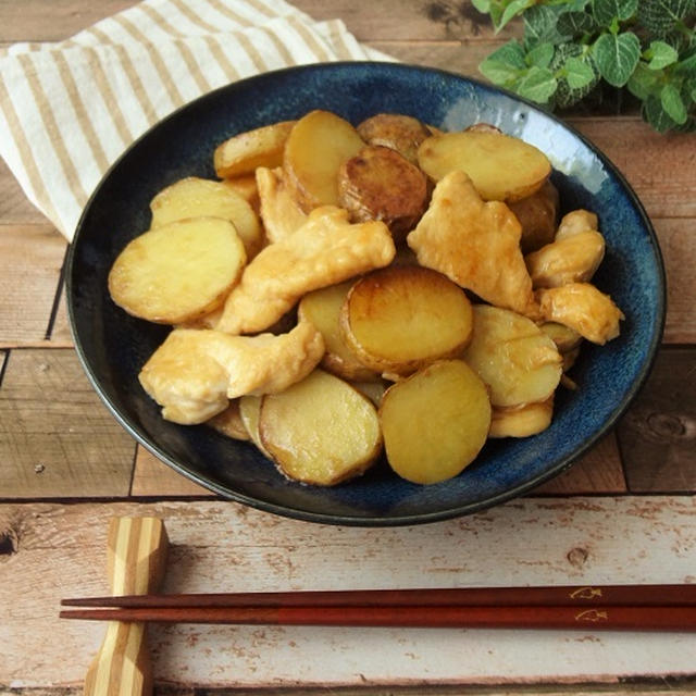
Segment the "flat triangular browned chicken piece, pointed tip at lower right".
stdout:
[[521,234],[518,219],[505,203],[484,202],[469,176],[456,170],[438,182],[407,244],[421,265],[492,304],[536,318]]

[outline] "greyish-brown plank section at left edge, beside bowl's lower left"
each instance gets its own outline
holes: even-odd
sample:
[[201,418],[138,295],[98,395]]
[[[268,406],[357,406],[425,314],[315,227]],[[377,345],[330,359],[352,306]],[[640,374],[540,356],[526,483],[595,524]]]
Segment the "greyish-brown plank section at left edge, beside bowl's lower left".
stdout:
[[135,443],[75,352],[13,350],[0,389],[0,497],[126,496]]

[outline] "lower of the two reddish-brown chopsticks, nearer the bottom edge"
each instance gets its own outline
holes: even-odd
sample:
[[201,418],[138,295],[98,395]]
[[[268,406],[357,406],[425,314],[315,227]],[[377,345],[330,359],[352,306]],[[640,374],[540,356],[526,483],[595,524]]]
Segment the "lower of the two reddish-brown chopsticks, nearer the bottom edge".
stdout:
[[285,606],[74,609],[64,619],[264,625],[696,631],[696,607]]

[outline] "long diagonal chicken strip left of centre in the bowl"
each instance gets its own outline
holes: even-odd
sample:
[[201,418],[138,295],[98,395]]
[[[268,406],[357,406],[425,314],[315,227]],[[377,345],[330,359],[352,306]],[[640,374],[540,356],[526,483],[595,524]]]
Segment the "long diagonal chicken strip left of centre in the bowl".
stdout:
[[294,234],[254,257],[227,296],[217,331],[268,328],[310,290],[388,265],[396,253],[383,222],[351,225],[335,206],[315,208]]

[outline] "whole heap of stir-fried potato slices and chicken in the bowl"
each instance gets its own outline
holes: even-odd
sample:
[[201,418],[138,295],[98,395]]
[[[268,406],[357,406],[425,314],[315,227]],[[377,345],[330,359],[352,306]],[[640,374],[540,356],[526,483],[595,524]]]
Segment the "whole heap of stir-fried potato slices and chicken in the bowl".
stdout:
[[546,154],[494,126],[315,110],[211,156],[217,179],[152,199],[109,290],[173,327],[139,374],[162,417],[291,480],[383,452],[414,483],[457,476],[488,438],[547,428],[583,341],[619,335],[597,216],[559,221]]

